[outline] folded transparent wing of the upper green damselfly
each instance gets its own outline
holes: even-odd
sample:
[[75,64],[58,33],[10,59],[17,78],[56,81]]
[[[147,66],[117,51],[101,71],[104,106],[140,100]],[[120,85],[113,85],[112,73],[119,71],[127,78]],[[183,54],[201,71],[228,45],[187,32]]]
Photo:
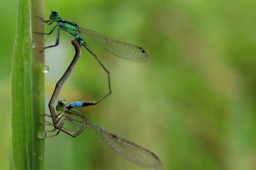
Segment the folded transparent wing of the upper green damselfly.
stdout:
[[133,62],[145,62],[148,60],[147,52],[140,46],[108,38],[102,34],[81,27],[79,27],[78,32],[117,57]]

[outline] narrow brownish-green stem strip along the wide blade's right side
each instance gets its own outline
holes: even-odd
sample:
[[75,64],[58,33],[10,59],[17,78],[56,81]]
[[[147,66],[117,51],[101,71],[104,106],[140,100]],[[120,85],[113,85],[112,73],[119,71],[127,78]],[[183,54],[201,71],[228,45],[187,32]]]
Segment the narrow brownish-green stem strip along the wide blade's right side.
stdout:
[[[42,21],[38,19],[40,16],[44,18],[44,0],[31,0],[31,26],[32,32],[39,31],[44,32],[44,25]],[[44,52],[40,52],[44,48],[44,36],[40,34],[32,33],[32,43],[35,45],[33,48],[33,114],[34,114],[34,143],[35,154],[33,155],[34,169],[44,169],[44,139],[36,138],[37,133],[44,130],[44,126],[35,125],[44,124],[45,113],[45,76],[43,69],[45,66]]]

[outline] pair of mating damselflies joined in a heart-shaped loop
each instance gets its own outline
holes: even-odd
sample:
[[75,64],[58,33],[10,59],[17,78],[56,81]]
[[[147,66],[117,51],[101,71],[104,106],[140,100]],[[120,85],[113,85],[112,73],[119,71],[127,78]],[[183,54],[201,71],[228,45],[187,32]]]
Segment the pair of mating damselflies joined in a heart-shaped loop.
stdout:
[[[39,17],[40,18],[40,17]],[[99,136],[109,145],[115,152],[119,153],[124,157],[125,159],[131,161],[134,164],[137,164],[138,166],[145,167],[146,169],[161,169],[162,164],[159,158],[149,150],[136,145],[132,143],[131,141],[128,141],[124,138],[121,138],[120,136],[117,136],[116,134],[113,134],[112,132],[104,129],[104,127],[101,127],[100,125],[97,125],[93,123],[91,120],[86,118],[82,113],[79,113],[75,110],[72,110],[73,108],[77,107],[83,107],[83,106],[90,106],[95,105],[102,101],[105,97],[109,96],[111,94],[111,84],[110,84],[110,73],[108,69],[100,62],[97,55],[93,53],[93,51],[89,48],[89,46],[86,44],[83,38],[81,38],[80,35],[85,36],[86,38],[91,39],[94,43],[102,47],[104,50],[106,50],[109,53],[112,53],[113,55],[116,55],[117,57],[120,57],[125,60],[130,60],[133,62],[145,62],[148,60],[147,52],[140,46],[132,45],[130,43],[125,43],[123,41],[118,41],[116,39],[111,39],[106,36],[103,36],[102,34],[99,34],[94,31],[90,31],[88,29],[81,28],[79,25],[77,25],[75,22],[72,22],[70,20],[66,20],[64,18],[60,18],[57,11],[51,11],[50,13],[50,20],[43,20],[46,24],[51,25],[54,22],[57,22],[57,24],[52,27],[51,31],[49,33],[44,32],[35,32],[38,34],[51,34],[56,27],[58,27],[57,30],[57,38],[55,45],[46,46],[43,50],[46,48],[51,48],[54,46],[57,46],[59,44],[60,39],[60,30],[67,31],[70,33],[74,38],[76,38],[76,41],[72,41],[72,44],[75,46],[76,49],[76,55],[74,59],[72,60],[70,66],[68,66],[67,71],[63,74],[61,79],[56,84],[56,87],[54,89],[54,93],[52,94],[51,101],[49,103],[49,109],[51,111],[51,116],[45,115],[46,117],[52,118],[52,124],[50,122],[46,122],[44,125],[52,125],[54,129],[52,131],[45,131],[45,132],[56,132],[56,134],[52,136],[47,136],[45,138],[56,136],[60,133],[60,131],[63,131],[70,136],[76,137],[81,132],[83,132],[84,127],[88,127],[89,129],[92,129],[93,131],[96,131]],[[79,43],[79,44],[78,44]],[[67,80],[68,76],[72,73],[72,70],[74,69],[77,60],[79,59],[79,56],[81,54],[81,46],[84,46],[88,52],[90,52],[93,57],[99,62],[100,66],[106,71],[108,74],[108,93],[104,96],[100,97],[99,99],[95,101],[78,101],[73,102],[70,104],[66,104],[66,101],[58,101],[58,104],[56,106],[57,114],[54,110],[54,103],[60,93],[61,87]],[[70,131],[64,127],[65,122],[71,122],[74,124],[77,129],[76,131]]]

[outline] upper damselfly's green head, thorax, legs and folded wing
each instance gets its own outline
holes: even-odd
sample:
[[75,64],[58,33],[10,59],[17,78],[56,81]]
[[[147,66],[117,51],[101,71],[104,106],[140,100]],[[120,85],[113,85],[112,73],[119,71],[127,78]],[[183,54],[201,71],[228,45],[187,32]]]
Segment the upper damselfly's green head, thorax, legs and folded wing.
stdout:
[[55,24],[52,27],[49,33],[45,33],[45,32],[35,32],[35,33],[49,35],[54,31],[56,27],[58,27],[57,39],[56,39],[55,45],[45,46],[43,50],[45,50],[46,48],[58,46],[59,39],[60,39],[60,30],[63,30],[63,31],[67,31],[69,34],[74,36],[74,38],[76,38],[79,41],[79,43],[83,45],[87,50],[89,50],[88,46],[84,41],[84,39],[81,38],[81,36],[85,36],[86,38],[91,39],[94,43],[96,43],[98,46],[100,46],[107,52],[113,55],[116,55],[117,57],[120,57],[122,59],[130,60],[133,62],[145,62],[148,60],[147,52],[141,46],[136,46],[130,43],[125,43],[123,41],[108,38],[95,31],[91,31],[89,29],[80,27],[75,22],[59,17],[58,11],[51,11],[49,20],[44,20],[43,18],[40,18],[40,19],[48,25],[51,25],[54,22],[57,22],[57,24]]

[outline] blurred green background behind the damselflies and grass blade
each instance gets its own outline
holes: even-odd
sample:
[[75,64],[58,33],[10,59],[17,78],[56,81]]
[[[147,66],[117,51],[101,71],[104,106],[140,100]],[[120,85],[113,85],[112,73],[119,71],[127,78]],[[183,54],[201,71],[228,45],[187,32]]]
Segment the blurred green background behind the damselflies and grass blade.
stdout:
[[[163,169],[256,169],[256,1],[45,1],[60,17],[147,50],[143,64],[88,41],[111,72],[113,94],[81,109],[98,124],[156,153]],[[10,72],[17,2],[1,1],[0,169],[10,169]],[[45,26],[49,31],[51,26]],[[45,36],[52,45],[56,32]],[[72,37],[45,51],[45,104],[74,56]],[[106,73],[83,49],[59,99],[93,100]],[[49,113],[47,106],[45,111]],[[95,132],[45,140],[45,169],[141,169]]]

